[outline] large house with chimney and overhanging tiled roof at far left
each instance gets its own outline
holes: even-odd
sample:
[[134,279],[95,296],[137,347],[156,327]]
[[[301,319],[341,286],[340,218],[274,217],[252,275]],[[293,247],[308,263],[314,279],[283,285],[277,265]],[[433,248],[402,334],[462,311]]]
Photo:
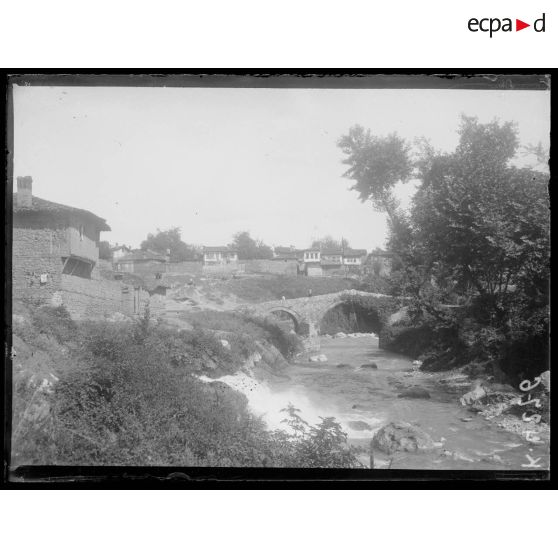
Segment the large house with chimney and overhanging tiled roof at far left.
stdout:
[[[32,195],[30,176],[17,178],[13,195],[13,293],[48,300],[64,276],[98,275],[99,237],[110,227],[101,217]],[[84,285],[86,285],[84,283]]]

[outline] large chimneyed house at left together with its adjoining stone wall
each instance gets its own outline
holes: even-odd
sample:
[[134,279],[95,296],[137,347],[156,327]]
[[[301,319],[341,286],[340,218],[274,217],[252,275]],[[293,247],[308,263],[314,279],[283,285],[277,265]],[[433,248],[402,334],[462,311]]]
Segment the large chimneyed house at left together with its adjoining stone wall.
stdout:
[[32,178],[18,177],[13,195],[13,298],[63,305],[75,319],[140,314],[150,301],[147,290],[123,292],[120,281],[101,277],[98,243],[103,231],[110,227],[101,217],[33,196]]

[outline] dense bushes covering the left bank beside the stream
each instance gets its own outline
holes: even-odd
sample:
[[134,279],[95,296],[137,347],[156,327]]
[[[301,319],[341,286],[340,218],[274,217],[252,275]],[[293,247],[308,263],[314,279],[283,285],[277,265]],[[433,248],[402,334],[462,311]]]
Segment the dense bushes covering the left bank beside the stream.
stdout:
[[25,342],[31,359],[33,353],[49,351],[40,353],[41,361],[52,361],[58,379],[52,381],[48,367],[42,377],[37,370],[32,377],[15,371],[16,466],[358,465],[346,434],[332,418],[299,431],[268,431],[249,412],[245,396],[221,382],[196,378],[235,370],[241,356],[236,342],[248,332],[256,339],[262,333],[280,338],[272,321],[232,314],[222,318],[220,323],[238,335],[229,338],[231,348],[226,349],[207,330],[177,332],[154,325],[148,314],[132,324],[78,324],[62,307],[18,312],[18,346]]

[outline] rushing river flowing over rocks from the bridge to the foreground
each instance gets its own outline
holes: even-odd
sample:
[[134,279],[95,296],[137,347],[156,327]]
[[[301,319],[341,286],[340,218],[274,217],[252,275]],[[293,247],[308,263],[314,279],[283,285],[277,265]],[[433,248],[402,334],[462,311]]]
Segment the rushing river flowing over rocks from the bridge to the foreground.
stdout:
[[[288,403],[310,424],[320,417],[335,417],[349,442],[361,448],[359,458],[366,466],[374,432],[392,421],[419,426],[438,447],[423,454],[375,452],[376,467],[517,470],[528,462],[526,454],[536,455],[524,438],[462,407],[458,396],[435,375],[410,374],[411,359],[379,349],[375,338],[325,338],[319,352],[327,362],[293,364],[283,371],[287,378],[258,382],[235,374],[220,380],[245,393],[252,411],[262,415],[270,428],[286,428],[281,410]],[[372,362],[377,369],[361,368]],[[425,388],[430,399],[398,397],[413,386]]]

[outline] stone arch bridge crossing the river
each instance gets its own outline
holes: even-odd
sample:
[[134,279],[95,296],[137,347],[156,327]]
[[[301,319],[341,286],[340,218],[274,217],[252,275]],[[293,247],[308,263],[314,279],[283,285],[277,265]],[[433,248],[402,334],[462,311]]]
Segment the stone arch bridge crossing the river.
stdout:
[[309,337],[314,337],[319,335],[320,322],[329,310],[341,304],[351,302],[356,305],[362,305],[363,301],[368,302],[368,309],[374,309],[374,302],[378,302],[377,308],[379,309],[380,307],[385,307],[386,302],[390,301],[392,304],[388,305],[391,307],[389,314],[403,306],[399,299],[389,295],[351,289],[325,295],[269,300],[259,304],[244,306],[242,309],[260,316],[285,312],[294,321],[297,333],[304,331],[307,332]]

